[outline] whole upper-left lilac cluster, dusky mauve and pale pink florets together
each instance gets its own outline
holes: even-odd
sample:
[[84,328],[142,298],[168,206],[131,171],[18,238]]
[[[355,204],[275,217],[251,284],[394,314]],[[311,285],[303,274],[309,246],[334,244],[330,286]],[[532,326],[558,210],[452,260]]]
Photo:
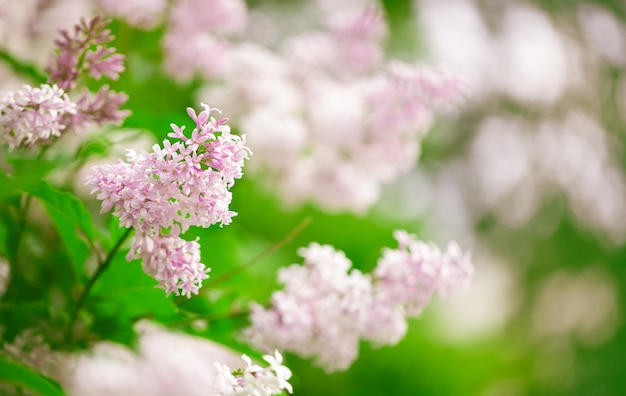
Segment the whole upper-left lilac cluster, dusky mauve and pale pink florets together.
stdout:
[[31,148],[88,123],[122,123],[129,114],[120,110],[128,99],[126,94],[107,85],[96,94],[84,88],[75,101],[67,94],[83,73],[96,79],[117,79],[124,71],[123,55],[103,45],[113,39],[105,29],[107,24],[107,20],[94,17],[76,25],[73,35],[61,29],[61,38],[55,40],[57,52],[47,68],[48,82],[53,85],[24,85],[19,91],[0,95],[0,143],[7,143],[10,150]]

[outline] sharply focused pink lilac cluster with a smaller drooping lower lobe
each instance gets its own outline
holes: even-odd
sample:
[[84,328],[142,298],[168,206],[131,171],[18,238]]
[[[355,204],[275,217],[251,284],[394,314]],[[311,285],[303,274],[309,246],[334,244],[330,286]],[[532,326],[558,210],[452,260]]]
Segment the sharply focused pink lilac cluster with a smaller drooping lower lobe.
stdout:
[[211,116],[219,111],[187,113],[195,122],[191,137],[185,126],[171,124],[173,132],[152,152],[129,150],[128,162],[94,167],[87,178],[92,194],[102,201],[102,212],[113,209],[124,227],[135,229],[127,259],[141,259],[146,273],[170,293],[197,294],[208,269],[200,263],[200,245],[180,237],[191,226],[229,224],[229,188],[242,176],[249,150],[245,136],[230,133],[228,119]]

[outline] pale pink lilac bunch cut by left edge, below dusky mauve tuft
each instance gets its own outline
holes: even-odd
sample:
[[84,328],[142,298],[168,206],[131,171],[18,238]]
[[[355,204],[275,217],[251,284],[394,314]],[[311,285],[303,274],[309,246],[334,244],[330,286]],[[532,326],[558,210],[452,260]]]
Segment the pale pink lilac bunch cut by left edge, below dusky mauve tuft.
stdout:
[[76,104],[56,85],[5,92],[0,95],[0,142],[9,150],[48,142],[61,136],[76,113]]

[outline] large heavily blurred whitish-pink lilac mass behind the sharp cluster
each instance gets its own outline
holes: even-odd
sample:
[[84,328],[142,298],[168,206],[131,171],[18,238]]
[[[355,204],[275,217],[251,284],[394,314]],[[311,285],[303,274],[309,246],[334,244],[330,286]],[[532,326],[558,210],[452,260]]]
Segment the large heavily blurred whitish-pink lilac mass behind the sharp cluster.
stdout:
[[[459,104],[466,88],[456,76],[386,61],[386,26],[373,4],[327,24],[277,53],[231,48],[224,81],[202,97],[236,103],[256,153],[251,169],[264,172],[285,203],[362,213],[384,183],[415,165],[434,114]],[[290,128],[270,127],[269,117]]]

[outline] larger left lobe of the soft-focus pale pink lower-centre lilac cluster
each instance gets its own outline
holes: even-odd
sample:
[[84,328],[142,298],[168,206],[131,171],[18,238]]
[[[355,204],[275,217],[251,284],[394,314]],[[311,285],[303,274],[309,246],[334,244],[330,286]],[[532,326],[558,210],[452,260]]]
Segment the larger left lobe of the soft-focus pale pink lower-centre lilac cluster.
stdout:
[[285,288],[272,295],[272,307],[251,306],[244,336],[261,350],[278,348],[313,358],[327,371],[345,370],[358,355],[371,281],[348,272],[352,264],[332,246],[312,243],[299,254],[304,265],[279,271]]

